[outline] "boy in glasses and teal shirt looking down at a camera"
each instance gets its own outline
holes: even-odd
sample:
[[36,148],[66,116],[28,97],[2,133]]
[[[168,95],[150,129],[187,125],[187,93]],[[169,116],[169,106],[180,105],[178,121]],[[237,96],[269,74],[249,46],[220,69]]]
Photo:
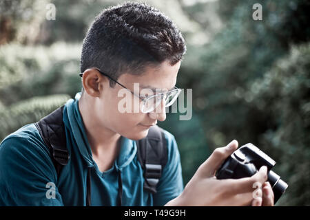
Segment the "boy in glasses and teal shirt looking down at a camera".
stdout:
[[[82,92],[63,109],[68,164],[58,176],[37,126],[23,126],[0,146],[0,204],[272,206],[266,167],[249,178],[214,177],[238,147],[236,140],[217,148],[183,189],[176,140],[167,131],[163,131],[167,164],[156,193],[143,190],[145,179],[134,140],[146,137],[151,126],[165,120],[165,107],[178,96],[176,77],[185,51],[183,36],[158,10],[131,2],[103,10],[83,41]],[[154,96],[136,93],[136,85],[156,92]],[[133,94],[138,112],[122,113],[120,91]],[[128,105],[125,102],[123,107]],[[262,186],[258,191],[263,193],[254,199],[257,181]],[[91,197],[87,196],[88,184]]]

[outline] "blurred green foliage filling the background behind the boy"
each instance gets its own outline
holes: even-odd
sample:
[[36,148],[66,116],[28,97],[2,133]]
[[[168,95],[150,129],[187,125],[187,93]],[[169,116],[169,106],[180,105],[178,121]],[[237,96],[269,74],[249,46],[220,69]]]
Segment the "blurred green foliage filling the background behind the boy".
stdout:
[[[50,2],[55,21],[45,19]],[[0,141],[81,89],[85,32],[98,12],[120,2],[1,1]],[[193,117],[168,113],[160,123],[176,137],[185,184],[214,148],[236,139],[276,160],[274,170],[289,184],[278,205],[309,206],[309,1],[146,2],[187,41],[177,86],[193,89]],[[251,17],[254,3],[262,21]],[[25,31],[30,26],[37,28]]]

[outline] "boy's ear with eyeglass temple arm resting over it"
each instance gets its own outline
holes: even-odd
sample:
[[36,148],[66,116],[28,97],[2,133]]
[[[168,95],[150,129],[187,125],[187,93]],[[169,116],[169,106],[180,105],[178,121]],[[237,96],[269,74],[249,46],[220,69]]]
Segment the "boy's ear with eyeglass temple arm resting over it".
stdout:
[[108,83],[108,81],[109,80],[96,69],[86,69],[85,72],[83,72],[83,87],[85,92],[92,97],[100,97],[103,91],[103,85]]

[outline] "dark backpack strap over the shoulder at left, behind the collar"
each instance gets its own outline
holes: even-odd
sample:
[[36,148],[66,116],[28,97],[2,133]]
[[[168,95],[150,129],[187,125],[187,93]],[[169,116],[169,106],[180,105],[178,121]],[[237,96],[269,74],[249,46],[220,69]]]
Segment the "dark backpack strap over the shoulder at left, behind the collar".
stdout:
[[52,162],[56,168],[57,177],[59,177],[61,168],[68,164],[70,159],[65,141],[63,107],[64,105],[46,115],[39,122],[34,123],[45,145],[48,146]]

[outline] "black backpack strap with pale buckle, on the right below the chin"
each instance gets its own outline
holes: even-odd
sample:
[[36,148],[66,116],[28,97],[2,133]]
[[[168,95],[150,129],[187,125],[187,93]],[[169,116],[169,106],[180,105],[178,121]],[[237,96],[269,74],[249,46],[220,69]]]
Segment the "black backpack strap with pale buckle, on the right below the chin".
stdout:
[[156,186],[163,168],[167,164],[167,143],[163,129],[152,126],[147,137],[136,141],[138,146],[138,161],[144,170],[143,188],[156,193]]

